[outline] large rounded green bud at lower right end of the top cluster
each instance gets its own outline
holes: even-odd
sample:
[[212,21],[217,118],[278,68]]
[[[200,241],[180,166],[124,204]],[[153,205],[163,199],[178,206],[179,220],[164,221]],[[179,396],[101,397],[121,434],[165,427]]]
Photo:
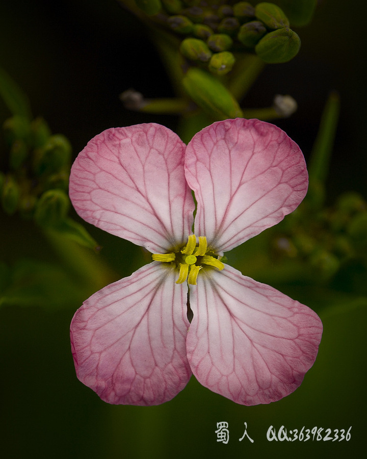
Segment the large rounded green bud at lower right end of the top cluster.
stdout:
[[300,47],[301,40],[296,32],[284,28],[270,32],[261,38],[255,46],[255,52],[264,62],[279,64],[293,59]]

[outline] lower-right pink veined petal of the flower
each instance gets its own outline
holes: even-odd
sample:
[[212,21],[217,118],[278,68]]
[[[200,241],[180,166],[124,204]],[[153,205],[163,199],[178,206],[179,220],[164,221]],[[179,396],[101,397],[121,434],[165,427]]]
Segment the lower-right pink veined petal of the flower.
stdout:
[[244,405],[297,389],[318,352],[318,315],[228,265],[202,271],[190,287],[194,317],[187,338],[198,381]]

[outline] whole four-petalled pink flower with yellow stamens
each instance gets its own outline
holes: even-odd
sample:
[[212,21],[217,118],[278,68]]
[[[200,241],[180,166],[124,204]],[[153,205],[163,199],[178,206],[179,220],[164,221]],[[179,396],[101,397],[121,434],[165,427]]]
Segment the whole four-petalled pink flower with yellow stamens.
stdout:
[[187,146],[153,123],[94,137],[71,169],[73,206],[153,261],[75,313],[77,377],[104,401],[135,405],[170,400],[192,373],[245,405],[293,392],[316,359],[321,320],[220,258],[296,209],[307,183],[299,147],[258,120],[216,122]]

